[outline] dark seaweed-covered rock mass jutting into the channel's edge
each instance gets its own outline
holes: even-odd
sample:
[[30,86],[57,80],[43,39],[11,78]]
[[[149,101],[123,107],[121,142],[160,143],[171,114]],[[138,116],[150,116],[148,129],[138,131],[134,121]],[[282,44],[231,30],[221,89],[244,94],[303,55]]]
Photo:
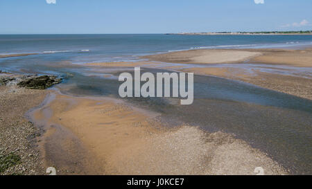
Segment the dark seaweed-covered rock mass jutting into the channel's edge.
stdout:
[[53,84],[58,84],[62,82],[61,78],[57,78],[55,75],[42,75],[42,76],[31,76],[26,77],[21,80],[21,82],[17,83],[19,87],[25,87],[27,89],[46,89]]

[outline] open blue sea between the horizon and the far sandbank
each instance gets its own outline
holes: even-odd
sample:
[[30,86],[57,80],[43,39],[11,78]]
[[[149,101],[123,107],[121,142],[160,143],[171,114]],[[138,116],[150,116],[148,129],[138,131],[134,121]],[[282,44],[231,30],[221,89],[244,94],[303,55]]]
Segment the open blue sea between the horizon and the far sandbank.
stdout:
[[57,60],[110,62],[194,48],[264,48],[312,44],[312,35],[0,35],[0,54],[58,54]]

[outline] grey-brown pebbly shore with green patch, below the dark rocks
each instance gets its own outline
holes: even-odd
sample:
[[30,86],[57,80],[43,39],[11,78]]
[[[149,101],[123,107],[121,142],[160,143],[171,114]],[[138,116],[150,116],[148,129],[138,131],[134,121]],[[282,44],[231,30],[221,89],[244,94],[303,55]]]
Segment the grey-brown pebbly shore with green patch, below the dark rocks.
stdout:
[[37,148],[40,129],[24,115],[40,105],[47,93],[0,85],[0,174],[44,174],[43,159]]

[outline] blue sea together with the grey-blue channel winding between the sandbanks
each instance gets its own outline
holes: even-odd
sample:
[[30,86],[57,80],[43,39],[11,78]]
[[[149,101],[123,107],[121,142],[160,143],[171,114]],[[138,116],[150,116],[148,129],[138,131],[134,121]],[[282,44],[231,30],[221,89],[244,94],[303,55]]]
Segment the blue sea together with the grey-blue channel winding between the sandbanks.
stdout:
[[[139,55],[193,48],[299,48],[311,44],[312,35],[0,35],[0,54],[39,53],[0,58],[0,70],[71,75],[58,85],[62,93],[119,98],[116,78],[132,69],[80,63],[135,61]],[[182,122],[209,132],[233,133],[295,174],[312,172],[311,100],[200,75],[194,78],[193,105],[175,105],[166,98],[127,100],[158,111],[172,125]]]

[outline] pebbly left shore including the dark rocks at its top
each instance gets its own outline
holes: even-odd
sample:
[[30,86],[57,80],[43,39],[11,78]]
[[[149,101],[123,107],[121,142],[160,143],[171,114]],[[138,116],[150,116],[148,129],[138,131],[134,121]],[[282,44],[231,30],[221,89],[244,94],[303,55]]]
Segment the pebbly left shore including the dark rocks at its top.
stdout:
[[28,111],[42,105],[59,83],[54,75],[26,75],[0,71],[0,174],[45,173],[38,142],[42,128],[28,119]]

